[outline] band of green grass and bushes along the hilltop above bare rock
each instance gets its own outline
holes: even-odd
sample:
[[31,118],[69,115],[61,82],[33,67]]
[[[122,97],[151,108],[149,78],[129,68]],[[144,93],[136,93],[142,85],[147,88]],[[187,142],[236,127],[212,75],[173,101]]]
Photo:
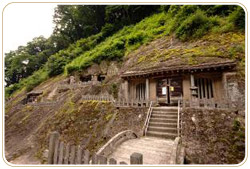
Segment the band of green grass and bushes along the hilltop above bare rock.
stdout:
[[[124,27],[116,33],[113,33],[117,30],[114,29],[115,24],[106,24],[100,33],[80,39],[67,49],[50,56],[40,70],[7,87],[5,95],[8,97],[24,87],[31,90],[51,76],[63,72],[70,74],[81,71],[102,60],[122,61],[124,56],[138,47],[163,36],[175,35],[182,41],[190,41],[206,34],[211,36],[227,32],[243,34],[244,16],[244,10],[239,6],[172,5],[162,6],[161,12],[137,24],[123,25]],[[238,48],[231,51],[233,54]]]

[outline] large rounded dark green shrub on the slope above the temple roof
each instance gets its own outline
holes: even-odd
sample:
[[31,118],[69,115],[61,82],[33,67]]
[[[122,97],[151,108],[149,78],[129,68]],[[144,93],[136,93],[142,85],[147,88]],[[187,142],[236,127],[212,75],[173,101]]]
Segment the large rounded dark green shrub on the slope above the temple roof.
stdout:
[[176,36],[181,40],[199,38],[212,27],[211,20],[200,10],[190,15],[176,30]]

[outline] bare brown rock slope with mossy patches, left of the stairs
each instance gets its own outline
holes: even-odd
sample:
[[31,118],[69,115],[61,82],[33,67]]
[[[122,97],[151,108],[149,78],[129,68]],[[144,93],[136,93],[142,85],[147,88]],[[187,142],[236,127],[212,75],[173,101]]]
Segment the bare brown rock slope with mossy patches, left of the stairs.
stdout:
[[[53,82],[52,82],[53,81]],[[65,142],[82,145],[96,152],[110,138],[123,130],[139,135],[146,109],[116,109],[107,101],[84,101],[84,94],[100,94],[107,87],[87,85],[60,88],[62,77],[51,79],[35,90],[43,91],[37,102],[24,104],[25,93],[6,104],[5,155],[12,163],[44,163],[48,136],[58,131]]]

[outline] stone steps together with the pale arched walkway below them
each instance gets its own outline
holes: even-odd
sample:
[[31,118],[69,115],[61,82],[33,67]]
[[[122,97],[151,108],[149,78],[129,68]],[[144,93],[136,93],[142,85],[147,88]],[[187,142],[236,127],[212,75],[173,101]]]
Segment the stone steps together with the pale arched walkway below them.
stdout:
[[107,158],[129,164],[136,152],[143,155],[143,164],[183,164],[185,151],[178,137],[177,120],[178,107],[152,107],[145,135],[122,142]]

